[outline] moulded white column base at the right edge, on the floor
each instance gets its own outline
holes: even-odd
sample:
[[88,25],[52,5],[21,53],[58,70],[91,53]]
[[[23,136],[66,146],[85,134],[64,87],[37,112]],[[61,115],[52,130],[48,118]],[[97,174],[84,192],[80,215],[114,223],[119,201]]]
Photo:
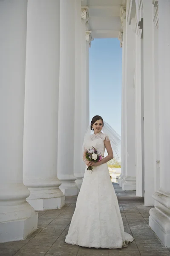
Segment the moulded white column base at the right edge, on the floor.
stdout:
[[162,244],[170,247],[170,195],[155,192],[153,198],[156,201],[155,207],[150,209],[149,226]]

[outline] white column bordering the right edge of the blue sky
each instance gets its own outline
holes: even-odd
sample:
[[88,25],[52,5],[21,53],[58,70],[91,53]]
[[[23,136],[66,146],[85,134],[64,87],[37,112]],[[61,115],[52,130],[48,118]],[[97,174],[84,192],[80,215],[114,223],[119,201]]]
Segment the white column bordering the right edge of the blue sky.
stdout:
[[135,34],[130,25],[126,26],[126,76],[125,76],[125,104],[126,118],[124,122],[124,145],[126,148],[126,171],[122,181],[122,190],[135,190]]

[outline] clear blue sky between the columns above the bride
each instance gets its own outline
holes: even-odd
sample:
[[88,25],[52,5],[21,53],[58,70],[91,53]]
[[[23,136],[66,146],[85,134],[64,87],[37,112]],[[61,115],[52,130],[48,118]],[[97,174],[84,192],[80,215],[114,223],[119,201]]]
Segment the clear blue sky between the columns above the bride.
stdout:
[[121,135],[122,49],[117,38],[95,39],[89,49],[90,120],[100,115]]

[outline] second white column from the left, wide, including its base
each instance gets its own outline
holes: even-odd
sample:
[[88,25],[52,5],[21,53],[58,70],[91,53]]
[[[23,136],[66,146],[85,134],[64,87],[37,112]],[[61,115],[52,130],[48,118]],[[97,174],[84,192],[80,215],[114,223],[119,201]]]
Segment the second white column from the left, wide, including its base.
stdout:
[[29,0],[23,181],[36,210],[64,205],[57,177],[60,1]]

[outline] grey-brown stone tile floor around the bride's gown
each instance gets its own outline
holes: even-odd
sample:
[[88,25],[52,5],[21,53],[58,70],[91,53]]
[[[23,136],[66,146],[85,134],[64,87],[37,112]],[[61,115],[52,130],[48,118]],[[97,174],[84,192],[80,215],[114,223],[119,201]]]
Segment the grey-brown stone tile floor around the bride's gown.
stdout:
[[39,212],[38,229],[27,239],[0,244],[0,256],[170,256],[148,225],[149,210],[133,191],[114,185],[125,231],[135,238],[123,249],[89,249],[64,243],[76,197],[67,197],[59,210]]

